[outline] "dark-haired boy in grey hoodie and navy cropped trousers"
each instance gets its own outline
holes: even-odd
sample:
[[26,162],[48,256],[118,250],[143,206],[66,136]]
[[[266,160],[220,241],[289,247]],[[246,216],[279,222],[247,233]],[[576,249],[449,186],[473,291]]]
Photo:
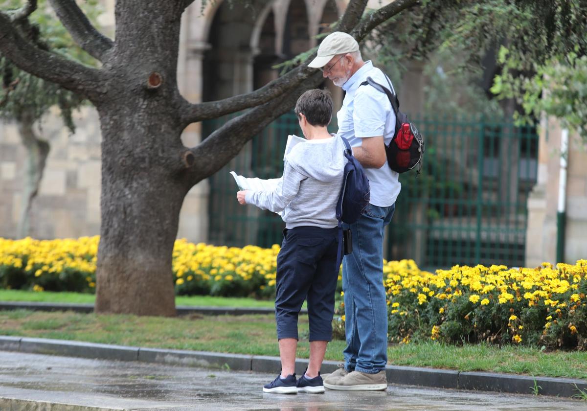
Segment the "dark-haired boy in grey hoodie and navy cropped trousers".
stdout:
[[[284,175],[266,191],[238,191],[240,204],[283,211],[284,241],[277,256],[275,321],[281,373],[263,391],[294,394],[324,392],[320,368],[332,339],[334,297],[340,268],[336,203],[342,188],[346,158],[340,137],[326,126],[332,118],[327,90],[308,90],[299,97],[295,113],[308,141],[296,144],[286,156]],[[298,313],[308,300],[310,361],[295,378]]]

